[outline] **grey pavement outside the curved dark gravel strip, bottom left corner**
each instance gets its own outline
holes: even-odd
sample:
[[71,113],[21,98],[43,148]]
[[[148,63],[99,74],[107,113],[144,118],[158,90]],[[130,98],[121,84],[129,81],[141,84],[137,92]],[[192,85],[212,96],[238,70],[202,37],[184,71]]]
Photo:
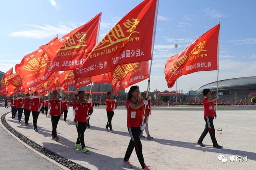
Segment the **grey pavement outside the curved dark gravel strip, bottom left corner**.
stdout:
[[[0,108],[0,116],[10,109]],[[0,126],[0,169],[8,170],[35,170],[35,169],[53,169],[60,167],[52,164],[50,161],[42,158],[32,150],[26,148],[18,142],[6,130]]]

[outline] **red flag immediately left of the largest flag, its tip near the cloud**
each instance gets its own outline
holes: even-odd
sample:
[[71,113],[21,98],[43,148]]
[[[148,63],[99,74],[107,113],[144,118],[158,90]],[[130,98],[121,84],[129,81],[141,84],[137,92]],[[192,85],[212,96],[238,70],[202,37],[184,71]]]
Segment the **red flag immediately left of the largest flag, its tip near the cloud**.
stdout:
[[73,70],[82,66],[96,45],[101,13],[62,38],[40,48],[52,59],[49,71]]

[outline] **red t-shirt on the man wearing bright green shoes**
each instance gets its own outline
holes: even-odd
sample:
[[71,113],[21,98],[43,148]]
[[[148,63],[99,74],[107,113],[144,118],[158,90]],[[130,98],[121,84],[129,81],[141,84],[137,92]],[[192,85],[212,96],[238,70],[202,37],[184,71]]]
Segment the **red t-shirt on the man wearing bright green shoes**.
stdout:
[[82,104],[77,104],[75,108],[75,122],[88,122],[86,119],[86,114],[88,110],[88,104],[87,103],[82,103]]

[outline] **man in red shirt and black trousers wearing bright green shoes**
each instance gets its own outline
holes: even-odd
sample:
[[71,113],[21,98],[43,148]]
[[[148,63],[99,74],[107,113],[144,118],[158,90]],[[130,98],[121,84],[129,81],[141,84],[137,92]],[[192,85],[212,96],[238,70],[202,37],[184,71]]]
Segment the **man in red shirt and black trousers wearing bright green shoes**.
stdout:
[[[82,149],[82,152],[86,153],[89,150],[85,147],[84,144],[84,132],[86,130],[86,125],[89,119],[89,115],[86,116],[88,110],[88,104],[91,103],[91,100],[84,99],[84,91],[78,91],[79,99],[76,100],[76,108],[75,108],[75,115],[74,115],[74,122],[76,123],[76,130],[78,133],[78,137],[76,140],[75,147],[77,149]],[[80,146],[81,144],[81,146]]]

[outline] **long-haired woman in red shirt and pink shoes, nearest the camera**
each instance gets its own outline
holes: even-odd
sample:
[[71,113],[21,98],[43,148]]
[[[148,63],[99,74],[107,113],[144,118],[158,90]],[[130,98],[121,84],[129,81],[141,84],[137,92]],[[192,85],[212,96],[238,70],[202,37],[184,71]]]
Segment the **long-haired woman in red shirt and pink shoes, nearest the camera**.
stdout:
[[[130,143],[126,150],[123,164],[128,168],[132,168],[130,164],[129,158],[132,154],[133,149],[135,148],[138,160],[140,161],[140,165],[143,170],[149,170],[148,166],[146,166],[142,154],[142,144],[140,142],[140,133],[146,126],[146,119],[144,119],[143,125],[142,119],[144,117],[144,105],[148,105],[148,101],[140,101],[138,99],[140,95],[140,89],[138,86],[130,87],[128,92],[128,97],[126,101],[126,109],[127,109],[127,127],[129,134],[131,136]],[[146,115],[145,115],[146,117]]]

